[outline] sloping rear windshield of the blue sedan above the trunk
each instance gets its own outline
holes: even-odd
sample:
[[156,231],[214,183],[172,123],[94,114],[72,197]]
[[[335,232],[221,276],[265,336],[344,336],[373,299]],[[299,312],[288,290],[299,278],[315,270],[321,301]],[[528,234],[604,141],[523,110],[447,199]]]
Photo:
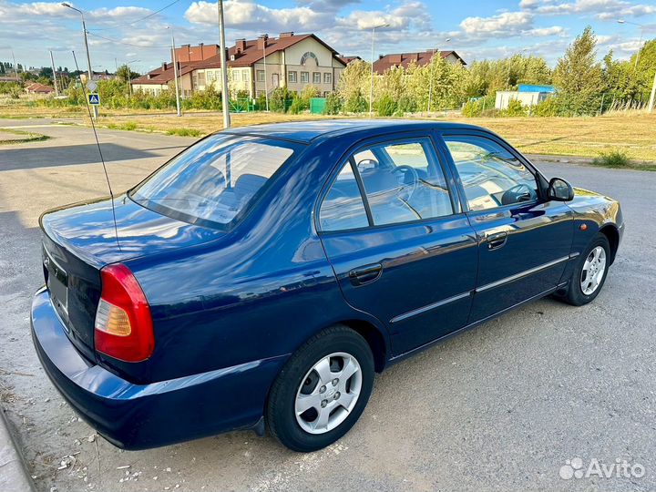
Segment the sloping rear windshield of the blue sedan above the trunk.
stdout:
[[174,219],[223,228],[249,208],[292,154],[293,146],[283,141],[211,135],[162,166],[129,196]]

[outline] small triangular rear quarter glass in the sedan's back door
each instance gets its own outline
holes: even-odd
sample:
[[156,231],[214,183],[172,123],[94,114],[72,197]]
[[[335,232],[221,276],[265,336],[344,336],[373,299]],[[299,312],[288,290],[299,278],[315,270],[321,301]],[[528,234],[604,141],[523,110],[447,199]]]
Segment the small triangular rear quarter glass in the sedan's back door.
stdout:
[[347,231],[369,225],[364,201],[350,162],[346,162],[319,210],[322,231]]

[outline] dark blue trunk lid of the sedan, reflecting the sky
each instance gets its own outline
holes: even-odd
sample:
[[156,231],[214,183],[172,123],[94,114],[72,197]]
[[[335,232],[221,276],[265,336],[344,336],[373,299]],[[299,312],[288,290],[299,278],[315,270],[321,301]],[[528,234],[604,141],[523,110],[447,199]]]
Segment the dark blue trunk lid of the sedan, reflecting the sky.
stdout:
[[146,209],[126,195],[114,202],[114,211],[107,198],[49,210],[40,220],[46,285],[68,337],[90,360],[96,358],[94,323],[102,267],[224,235]]

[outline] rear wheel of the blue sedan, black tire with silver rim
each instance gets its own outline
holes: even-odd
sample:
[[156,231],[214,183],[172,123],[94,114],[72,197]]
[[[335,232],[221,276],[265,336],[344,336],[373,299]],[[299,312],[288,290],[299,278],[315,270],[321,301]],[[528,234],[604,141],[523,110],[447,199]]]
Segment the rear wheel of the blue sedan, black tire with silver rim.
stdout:
[[267,401],[267,425],[293,451],[322,449],[354,426],[373,387],[369,344],[347,326],[332,326],[303,343],[278,374]]

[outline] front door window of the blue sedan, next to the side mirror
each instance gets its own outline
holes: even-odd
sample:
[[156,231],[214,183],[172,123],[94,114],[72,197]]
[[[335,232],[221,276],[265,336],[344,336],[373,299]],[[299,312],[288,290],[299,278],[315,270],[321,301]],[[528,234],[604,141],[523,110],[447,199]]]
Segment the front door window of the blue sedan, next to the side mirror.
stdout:
[[533,173],[489,138],[445,137],[470,210],[487,210],[538,198]]

